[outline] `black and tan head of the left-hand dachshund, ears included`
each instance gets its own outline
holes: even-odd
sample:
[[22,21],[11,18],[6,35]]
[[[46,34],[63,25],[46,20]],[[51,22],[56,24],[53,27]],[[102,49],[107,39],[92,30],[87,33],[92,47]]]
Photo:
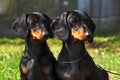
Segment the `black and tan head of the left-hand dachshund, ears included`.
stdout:
[[52,20],[45,14],[32,12],[22,15],[12,27],[17,36],[21,38],[30,37],[31,41],[42,41],[53,37],[50,29]]

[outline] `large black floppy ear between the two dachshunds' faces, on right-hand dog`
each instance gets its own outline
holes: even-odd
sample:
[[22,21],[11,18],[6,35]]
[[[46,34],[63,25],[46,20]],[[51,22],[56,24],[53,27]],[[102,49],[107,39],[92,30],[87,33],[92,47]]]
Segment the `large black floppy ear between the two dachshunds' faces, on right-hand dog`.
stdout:
[[67,15],[68,12],[63,12],[51,23],[51,29],[54,35],[63,41],[67,40],[69,37],[69,28],[66,21]]

